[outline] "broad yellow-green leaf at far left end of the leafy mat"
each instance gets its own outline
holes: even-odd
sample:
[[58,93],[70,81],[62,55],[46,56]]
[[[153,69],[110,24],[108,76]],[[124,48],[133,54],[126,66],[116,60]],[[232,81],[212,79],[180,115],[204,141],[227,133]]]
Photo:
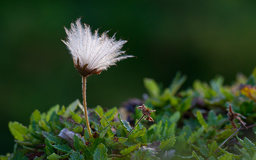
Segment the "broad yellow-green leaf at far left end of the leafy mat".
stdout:
[[28,139],[28,128],[23,126],[21,123],[19,122],[9,122],[8,124],[9,130],[12,133],[12,135],[14,136],[14,139],[18,140],[18,141],[24,141],[25,139]]

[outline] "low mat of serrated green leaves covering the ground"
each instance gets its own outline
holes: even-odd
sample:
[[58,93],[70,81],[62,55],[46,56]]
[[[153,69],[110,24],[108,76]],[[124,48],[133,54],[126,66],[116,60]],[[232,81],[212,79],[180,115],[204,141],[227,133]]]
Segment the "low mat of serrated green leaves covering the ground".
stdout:
[[255,139],[255,76],[256,70],[248,78],[238,74],[231,86],[223,85],[221,76],[209,84],[196,80],[180,92],[186,80],[180,73],[165,89],[145,78],[144,104],[156,110],[148,118],[154,122],[141,120],[146,110],[143,114],[136,104],[130,120],[121,119],[116,107],[97,106],[88,108],[91,135],[79,100],[46,113],[35,110],[28,127],[9,122],[16,144],[0,159],[256,159],[255,142],[249,140]]

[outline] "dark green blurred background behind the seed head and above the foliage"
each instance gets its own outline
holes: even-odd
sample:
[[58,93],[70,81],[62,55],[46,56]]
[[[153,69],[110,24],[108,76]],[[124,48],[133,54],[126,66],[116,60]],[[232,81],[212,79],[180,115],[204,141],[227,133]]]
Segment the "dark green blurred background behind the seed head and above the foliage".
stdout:
[[88,107],[141,98],[144,77],[167,87],[180,70],[185,89],[216,74],[230,84],[256,65],[255,1],[1,1],[0,8],[0,154],[13,149],[9,121],[28,125],[35,109],[82,100],[81,77],[60,40],[79,16],[93,30],[112,29],[109,36],[118,30],[118,39],[129,38],[123,50],[137,56],[88,78]]

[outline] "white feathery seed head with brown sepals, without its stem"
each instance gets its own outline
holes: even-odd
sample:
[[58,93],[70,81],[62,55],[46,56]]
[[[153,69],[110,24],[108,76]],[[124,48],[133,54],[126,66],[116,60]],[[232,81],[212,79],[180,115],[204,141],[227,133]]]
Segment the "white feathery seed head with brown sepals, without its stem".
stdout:
[[63,41],[69,49],[74,65],[82,76],[92,74],[100,74],[102,70],[106,70],[116,62],[134,57],[126,55],[125,51],[121,51],[123,44],[127,41],[116,40],[107,35],[108,31],[98,35],[98,29],[94,33],[91,32],[89,25],[81,24],[81,18],[75,23],[71,23],[71,28],[66,27],[67,40]]

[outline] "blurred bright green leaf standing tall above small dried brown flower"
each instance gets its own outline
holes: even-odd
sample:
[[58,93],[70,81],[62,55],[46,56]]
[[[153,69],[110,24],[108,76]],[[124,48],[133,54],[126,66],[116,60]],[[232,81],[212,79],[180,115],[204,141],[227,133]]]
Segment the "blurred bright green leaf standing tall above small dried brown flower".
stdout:
[[143,82],[150,96],[159,97],[160,88],[154,79],[144,78]]

